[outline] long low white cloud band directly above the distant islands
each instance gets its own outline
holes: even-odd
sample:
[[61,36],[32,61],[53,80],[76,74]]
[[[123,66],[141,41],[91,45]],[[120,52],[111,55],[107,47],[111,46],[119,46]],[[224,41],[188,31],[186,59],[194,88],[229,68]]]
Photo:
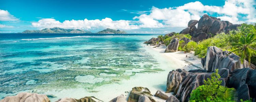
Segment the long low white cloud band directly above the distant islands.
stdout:
[[57,21],[53,18],[40,19],[38,22],[33,22],[33,27],[39,28],[81,28],[81,29],[91,29],[91,28],[112,28],[112,29],[139,29],[137,25],[130,24],[132,21],[129,20],[116,20],[113,21],[111,18],[104,18],[102,20],[65,20],[63,22]]

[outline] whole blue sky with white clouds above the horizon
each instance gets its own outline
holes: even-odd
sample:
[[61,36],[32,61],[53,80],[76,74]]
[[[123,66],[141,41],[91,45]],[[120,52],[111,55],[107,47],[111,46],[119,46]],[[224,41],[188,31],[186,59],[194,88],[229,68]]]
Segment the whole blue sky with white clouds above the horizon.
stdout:
[[255,23],[256,0],[0,0],[0,33],[60,27],[166,34],[204,14]]

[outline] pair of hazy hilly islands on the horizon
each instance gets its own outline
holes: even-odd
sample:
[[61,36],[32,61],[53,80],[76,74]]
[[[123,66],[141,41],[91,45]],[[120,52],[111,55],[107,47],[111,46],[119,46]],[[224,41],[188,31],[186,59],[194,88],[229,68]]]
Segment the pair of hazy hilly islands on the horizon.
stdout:
[[[80,30],[80,29],[63,29],[63,28],[58,28],[58,27],[54,27],[54,28],[45,28],[42,30],[26,30],[22,33],[80,33],[80,34],[84,34],[84,33],[92,33],[90,31],[84,31],[84,30]],[[120,31],[120,30],[113,30],[110,28],[107,28],[105,30],[99,31],[96,34],[127,34],[125,31]]]

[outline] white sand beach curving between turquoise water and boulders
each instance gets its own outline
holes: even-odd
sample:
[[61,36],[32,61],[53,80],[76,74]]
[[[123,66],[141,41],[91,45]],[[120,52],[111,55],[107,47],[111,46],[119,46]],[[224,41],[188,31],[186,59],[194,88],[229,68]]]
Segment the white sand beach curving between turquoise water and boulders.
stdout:
[[[194,56],[192,53],[164,53],[166,48],[165,46],[160,46],[157,48],[153,48],[154,46],[147,46],[146,44],[142,44],[141,46],[141,49],[145,49],[146,52],[154,55],[154,58],[157,59],[159,63],[159,68],[165,71],[161,71],[158,73],[136,73],[136,75],[130,77],[129,80],[124,80],[119,84],[102,85],[100,87],[97,87],[96,89],[91,90],[91,92],[86,89],[80,88],[61,90],[57,92],[58,94],[56,94],[55,91],[49,91],[44,94],[58,95],[57,97],[69,97],[76,99],[80,99],[85,96],[94,96],[104,102],[108,102],[121,94],[125,95],[125,98],[127,98],[128,100],[129,92],[131,91],[131,89],[136,86],[141,86],[147,87],[151,91],[151,94],[154,96],[157,90],[165,92],[167,75],[169,71],[178,68],[186,70],[199,69],[199,67],[202,68],[200,58],[197,58],[197,56]],[[187,58],[186,55],[188,56]],[[193,63],[194,66],[190,63]],[[171,93],[166,93],[166,95],[170,96]],[[158,97],[154,97],[154,99],[158,102],[166,101]],[[51,98],[51,100],[56,101],[58,100],[58,98]]]

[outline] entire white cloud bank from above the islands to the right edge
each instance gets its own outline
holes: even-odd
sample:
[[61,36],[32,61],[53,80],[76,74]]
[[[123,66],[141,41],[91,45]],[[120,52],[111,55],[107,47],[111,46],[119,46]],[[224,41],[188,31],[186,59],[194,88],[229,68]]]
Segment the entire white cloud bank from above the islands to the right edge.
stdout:
[[[182,6],[157,8],[150,11],[136,12],[139,16],[131,20],[116,20],[104,18],[102,20],[65,20],[60,22],[53,18],[40,19],[33,22],[38,28],[112,28],[112,29],[140,29],[140,28],[185,28],[189,20],[199,20],[204,14],[214,15],[233,24],[256,22],[255,0],[226,0],[223,6],[203,5],[201,2],[190,2]],[[128,10],[123,10],[128,11]]]

